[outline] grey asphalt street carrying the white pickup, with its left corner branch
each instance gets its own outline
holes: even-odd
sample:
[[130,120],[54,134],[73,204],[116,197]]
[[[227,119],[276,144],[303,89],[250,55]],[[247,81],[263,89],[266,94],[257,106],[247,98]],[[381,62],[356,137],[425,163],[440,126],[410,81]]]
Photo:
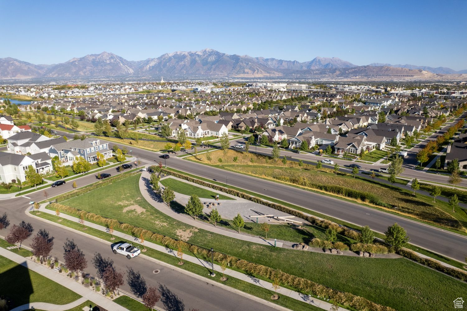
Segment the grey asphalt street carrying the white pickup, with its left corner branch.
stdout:
[[[111,173],[112,175],[117,174],[115,168],[103,170],[103,172]],[[94,174],[90,174],[78,179],[77,184],[78,186],[84,186],[95,181],[96,177]],[[49,188],[47,192],[50,198],[71,190],[71,183],[67,183],[56,188]],[[167,266],[152,262],[144,258],[144,256],[128,260],[122,255],[114,255],[111,246],[105,242],[76,233],[65,227],[51,225],[42,219],[28,216],[24,211],[30,206],[29,201],[42,201],[44,199],[43,191],[29,193],[25,197],[27,198],[18,197],[0,201],[0,211],[2,213],[7,212],[10,226],[24,220],[31,223],[34,227],[33,235],[23,244],[30,246],[35,233],[40,229],[46,229],[51,236],[55,237],[51,255],[63,261],[64,243],[67,240],[73,240],[85,254],[88,262],[88,268],[85,269],[86,272],[99,276],[99,270],[102,270],[106,264],[112,262],[115,269],[125,273],[125,284],[121,287],[122,290],[139,296],[142,289],[149,286],[156,287],[162,294],[161,301],[157,304],[160,308],[167,311],[189,309],[225,311],[270,310],[264,304],[248,298],[245,299],[244,296],[241,297],[197,278],[187,276]],[[6,235],[7,231],[4,230],[0,234]],[[161,272],[153,274],[152,271],[155,269],[160,269]]]

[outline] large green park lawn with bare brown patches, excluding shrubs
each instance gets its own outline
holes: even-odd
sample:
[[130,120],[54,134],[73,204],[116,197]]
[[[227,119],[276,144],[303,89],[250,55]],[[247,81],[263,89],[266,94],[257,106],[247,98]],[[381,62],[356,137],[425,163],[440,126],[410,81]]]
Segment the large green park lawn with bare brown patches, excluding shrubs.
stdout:
[[[139,195],[137,178],[122,179],[61,204],[118,219],[175,239],[183,238],[200,247],[213,247],[224,254],[281,269],[291,275],[351,292],[395,309],[446,309],[450,305],[449,301],[441,297],[440,293],[466,290],[465,283],[405,258],[365,260],[360,257],[329,256],[267,247],[187,226],[174,219],[164,219]],[[109,193],[113,195],[109,196]],[[391,280],[391,283],[388,285],[385,280]],[[414,280],[417,281],[414,283]],[[440,290],[434,284],[442,284],[443,289]],[[398,299],[394,299],[394,291],[397,291]],[[423,299],[410,298],[415,296]]]

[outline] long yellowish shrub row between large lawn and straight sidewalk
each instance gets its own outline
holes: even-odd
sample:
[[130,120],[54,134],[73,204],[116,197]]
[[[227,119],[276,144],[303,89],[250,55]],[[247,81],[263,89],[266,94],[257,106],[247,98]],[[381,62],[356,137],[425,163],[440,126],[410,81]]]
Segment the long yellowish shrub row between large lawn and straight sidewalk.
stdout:
[[[50,207],[53,209],[59,209],[64,212],[77,215],[79,217],[82,217],[83,219],[88,219],[93,222],[103,224],[105,226],[108,226],[109,224],[112,224],[112,223],[118,224],[118,227],[121,231],[131,233],[134,237],[138,237],[138,238],[143,237],[145,240],[151,240],[151,241],[160,243],[163,246],[170,247],[172,249],[177,249],[178,247],[182,247],[185,250],[189,250],[193,254],[201,255],[202,257],[204,257],[205,260],[211,259],[211,255],[212,255],[211,250],[206,249],[204,247],[199,247],[199,246],[184,242],[182,240],[175,240],[163,234],[153,233],[149,230],[146,230],[140,227],[135,227],[130,224],[126,224],[126,223],[120,224],[115,219],[108,219],[100,215],[96,215],[94,213],[78,210],[77,208],[74,208],[71,206],[52,203]],[[338,243],[341,243],[342,245]],[[344,243],[342,242],[334,243],[334,245],[345,247]],[[358,310],[372,310],[372,311],[393,311],[394,310],[390,307],[383,306],[381,304],[376,304],[364,297],[356,296],[348,292],[342,292],[340,290],[334,290],[330,287],[318,284],[316,282],[310,281],[303,277],[294,276],[294,275],[282,272],[280,270],[269,268],[264,265],[256,264],[253,262],[248,262],[246,260],[239,259],[231,255],[214,252],[213,256],[216,262],[226,262],[229,265],[236,267],[238,269],[241,269],[248,274],[261,276],[264,278],[268,278],[270,280],[277,279],[279,283],[296,288],[297,290],[300,290],[304,293],[311,293],[321,298],[329,298],[339,304],[349,306],[349,307],[352,307]]]

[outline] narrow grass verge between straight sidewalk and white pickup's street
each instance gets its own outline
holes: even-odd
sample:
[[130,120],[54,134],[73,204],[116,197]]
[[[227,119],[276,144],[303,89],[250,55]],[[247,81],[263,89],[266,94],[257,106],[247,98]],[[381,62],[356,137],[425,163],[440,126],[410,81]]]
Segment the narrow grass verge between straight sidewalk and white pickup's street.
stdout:
[[[82,232],[84,232],[86,234],[92,235],[92,236],[97,237],[99,239],[106,240],[106,241],[112,241],[111,240],[111,235],[109,233],[99,231],[99,230],[89,228],[89,227],[87,227],[86,230],[83,230],[83,226],[76,223],[76,222],[73,222],[73,221],[70,221],[70,220],[67,220],[67,219],[60,219],[57,216],[50,215],[50,214],[47,214],[47,213],[35,213],[35,212],[31,212],[31,213],[34,213],[34,215],[39,217],[39,218],[47,219],[47,220],[53,221],[53,222],[55,222],[55,223],[57,223],[59,225],[63,225],[63,226],[70,227],[72,229],[80,230],[80,231],[82,231]],[[123,231],[121,231],[121,232],[123,232]],[[155,241],[152,241],[152,242],[156,243]],[[192,273],[198,274],[199,276],[205,277],[207,275],[206,268],[201,267],[201,266],[199,266],[197,264],[194,264],[194,263],[191,263],[191,262],[185,262],[184,265],[179,266],[178,265],[179,260],[176,257],[171,256],[169,254],[164,254],[162,252],[156,251],[156,250],[148,248],[148,247],[146,247],[146,249],[147,249],[147,251],[144,253],[144,255],[146,255],[146,256],[149,256],[149,257],[155,258],[157,260],[169,263],[169,264],[171,264],[173,266],[176,266],[178,268],[181,268],[181,269],[190,271]],[[232,267],[230,267],[230,268],[232,268]],[[262,278],[260,276],[256,276],[256,277],[258,277],[260,279],[264,279],[264,278]],[[236,279],[236,278],[230,277],[230,276],[228,277],[228,280],[225,281],[225,282],[221,282],[217,278],[216,279],[211,279],[210,278],[210,280],[214,280],[216,282],[219,282],[219,283],[222,283],[224,285],[230,286],[230,287],[232,287],[234,289],[237,289],[237,290],[244,291],[244,292],[246,292],[246,293],[248,293],[250,295],[253,295],[253,296],[259,297],[261,299],[268,300],[268,301],[270,300],[269,299],[270,296],[273,294],[272,290],[265,289],[265,288],[256,286],[254,284],[250,284],[250,283],[244,282],[242,280],[239,280],[239,279]],[[283,286],[283,287],[287,288],[287,286]],[[131,311],[140,311],[140,310],[141,311],[143,311],[143,310],[147,311],[148,310],[147,308],[144,308],[144,306],[140,302],[134,300],[131,297],[121,296],[119,298],[116,298],[113,301],[115,303],[117,303],[117,304],[120,304],[120,305],[126,307],[128,310],[131,310]],[[321,310],[321,309],[319,309],[319,308],[317,308],[317,307],[315,307],[313,305],[305,304],[303,302],[297,301],[295,299],[292,299],[292,298],[286,297],[286,296],[281,296],[281,298],[279,300],[276,300],[276,301],[273,301],[273,302],[275,304],[278,304],[278,305],[281,305],[283,307],[287,307],[287,308],[290,308],[291,310],[296,310],[296,311]]]

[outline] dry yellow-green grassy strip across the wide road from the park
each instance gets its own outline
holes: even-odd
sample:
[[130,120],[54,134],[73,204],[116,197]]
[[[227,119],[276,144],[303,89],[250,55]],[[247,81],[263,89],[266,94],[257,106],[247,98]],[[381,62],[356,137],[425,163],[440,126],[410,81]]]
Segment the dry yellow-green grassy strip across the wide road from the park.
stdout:
[[[219,157],[222,158],[222,163],[218,163]],[[247,155],[235,150],[227,150],[226,153],[221,150],[212,151],[206,155],[185,159],[305,190],[346,198],[358,204],[396,213],[430,225],[442,226],[464,235],[467,232],[467,214],[460,207],[456,212],[452,212],[452,208],[446,202],[438,200],[433,203],[431,197],[418,193],[413,195],[411,191],[392,188],[387,184],[366,178],[354,178],[351,174],[338,173],[336,175],[327,168],[318,170],[314,165],[309,164],[303,164],[300,167],[297,162],[292,161],[283,164],[281,161],[274,161],[266,156]],[[365,191],[353,192],[358,192],[356,193],[358,197],[363,196],[366,199],[351,198],[340,194],[347,189],[365,189]]]

